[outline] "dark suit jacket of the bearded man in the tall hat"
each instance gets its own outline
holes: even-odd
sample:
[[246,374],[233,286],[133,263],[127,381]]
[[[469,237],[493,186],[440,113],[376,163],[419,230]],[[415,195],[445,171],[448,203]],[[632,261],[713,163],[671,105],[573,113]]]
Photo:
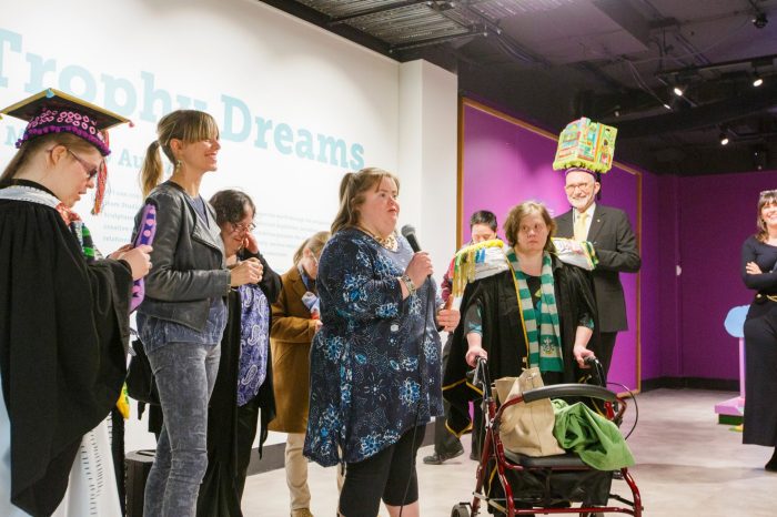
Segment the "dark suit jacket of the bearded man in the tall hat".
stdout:
[[[569,210],[556,217],[556,236],[574,239],[572,212]],[[626,300],[618,273],[636,273],[642,265],[628,216],[622,210],[597,203],[587,240],[594,245],[599,260],[592,272],[599,332],[625,331],[628,328]]]

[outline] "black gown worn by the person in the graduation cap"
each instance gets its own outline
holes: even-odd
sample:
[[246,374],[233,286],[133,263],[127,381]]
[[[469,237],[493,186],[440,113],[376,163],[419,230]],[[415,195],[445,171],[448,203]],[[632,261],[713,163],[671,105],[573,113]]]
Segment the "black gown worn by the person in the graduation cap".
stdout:
[[81,438],[119,399],[129,266],[87,264],[59,212],[0,200],[0,372],[11,423],[11,501],[51,515]]

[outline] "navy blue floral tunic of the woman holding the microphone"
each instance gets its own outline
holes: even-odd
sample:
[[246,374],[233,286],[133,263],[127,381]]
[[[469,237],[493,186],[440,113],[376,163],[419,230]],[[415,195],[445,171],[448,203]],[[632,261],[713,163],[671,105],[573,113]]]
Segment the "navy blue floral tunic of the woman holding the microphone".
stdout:
[[[443,414],[435,286],[402,300],[398,276],[413,252],[346,229],[319,264],[322,330],[311,347],[305,456],[323,466],[361,462],[415,425]],[[417,419],[416,419],[417,415]]]

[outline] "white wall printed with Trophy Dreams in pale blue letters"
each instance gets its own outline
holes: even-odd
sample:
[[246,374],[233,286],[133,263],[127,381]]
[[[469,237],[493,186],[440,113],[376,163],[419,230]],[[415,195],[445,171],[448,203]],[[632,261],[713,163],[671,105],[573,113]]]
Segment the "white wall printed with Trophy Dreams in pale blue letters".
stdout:
[[[239,187],[253,197],[260,246],[280,273],[305,236],[329,227],[342,174],[365,165],[398,174],[401,222],[418,229],[437,276],[455,249],[456,78],[428,63],[400,65],[249,0],[32,0],[3,10],[0,105],[48,87],[134,122],[111,131],[104,213],[88,214],[91,199],[77,206],[103,252],[129,240],[155,122],[192,107],[222,131],[203,195]],[[23,126],[0,122],[0,163]],[[340,145],[334,160],[320,139]],[[132,420],[127,448],[150,445]]]

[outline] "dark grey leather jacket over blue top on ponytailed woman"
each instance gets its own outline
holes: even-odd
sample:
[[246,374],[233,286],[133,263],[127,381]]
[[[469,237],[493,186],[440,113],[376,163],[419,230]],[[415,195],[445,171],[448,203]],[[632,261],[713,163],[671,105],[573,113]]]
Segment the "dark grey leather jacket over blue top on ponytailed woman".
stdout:
[[[204,331],[212,298],[229,293],[230,272],[213,209],[205,203],[208,227],[189,200],[185,191],[170,181],[157,186],[145,200],[157,206],[157,233],[151,272],[145,276],[145,298],[138,311]],[[139,212],[135,229],[140,227],[140,216]]]

